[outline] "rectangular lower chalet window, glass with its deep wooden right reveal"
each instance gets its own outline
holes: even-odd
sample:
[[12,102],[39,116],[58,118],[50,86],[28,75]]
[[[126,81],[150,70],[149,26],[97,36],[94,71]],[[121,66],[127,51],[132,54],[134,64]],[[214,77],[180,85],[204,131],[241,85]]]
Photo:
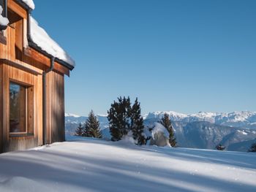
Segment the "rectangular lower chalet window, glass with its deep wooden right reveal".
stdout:
[[33,134],[33,87],[10,82],[10,134]]

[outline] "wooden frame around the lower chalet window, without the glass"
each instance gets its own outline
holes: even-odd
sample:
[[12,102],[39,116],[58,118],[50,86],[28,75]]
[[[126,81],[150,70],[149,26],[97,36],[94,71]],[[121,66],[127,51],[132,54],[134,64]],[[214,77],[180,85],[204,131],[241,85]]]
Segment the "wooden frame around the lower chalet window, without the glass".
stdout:
[[[26,91],[26,116],[25,116],[25,128],[26,131],[23,132],[11,132],[9,128],[10,137],[24,137],[34,135],[34,85],[29,85],[24,82],[19,82],[17,80],[9,80],[8,95],[10,95],[10,83],[23,86]],[[29,93],[31,91],[31,93]],[[10,109],[10,100],[9,100]],[[10,110],[9,110],[9,127],[10,127]]]

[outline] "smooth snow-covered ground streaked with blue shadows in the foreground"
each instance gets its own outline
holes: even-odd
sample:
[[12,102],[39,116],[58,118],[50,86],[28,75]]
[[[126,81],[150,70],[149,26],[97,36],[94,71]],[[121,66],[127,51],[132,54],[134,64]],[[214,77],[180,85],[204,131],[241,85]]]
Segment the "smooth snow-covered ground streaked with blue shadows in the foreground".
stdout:
[[254,153],[70,139],[1,154],[0,191],[256,191]]

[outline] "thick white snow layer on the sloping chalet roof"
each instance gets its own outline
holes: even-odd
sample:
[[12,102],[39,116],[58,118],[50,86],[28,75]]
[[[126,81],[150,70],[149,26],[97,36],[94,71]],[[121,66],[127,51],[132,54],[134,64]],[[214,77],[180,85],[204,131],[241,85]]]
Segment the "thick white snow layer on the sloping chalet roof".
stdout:
[[68,64],[75,66],[75,61],[41,28],[37,20],[31,17],[31,39],[45,52],[53,55]]

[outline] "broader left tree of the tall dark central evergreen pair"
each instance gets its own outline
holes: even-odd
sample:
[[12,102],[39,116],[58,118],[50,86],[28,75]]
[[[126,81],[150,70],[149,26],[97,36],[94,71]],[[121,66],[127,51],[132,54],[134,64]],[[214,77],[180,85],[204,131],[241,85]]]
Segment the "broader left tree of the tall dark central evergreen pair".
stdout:
[[129,112],[129,97],[127,99],[125,97],[119,97],[118,101],[114,101],[113,104],[111,104],[110,110],[108,111],[108,120],[112,141],[121,140],[121,137],[127,135],[130,129]]

